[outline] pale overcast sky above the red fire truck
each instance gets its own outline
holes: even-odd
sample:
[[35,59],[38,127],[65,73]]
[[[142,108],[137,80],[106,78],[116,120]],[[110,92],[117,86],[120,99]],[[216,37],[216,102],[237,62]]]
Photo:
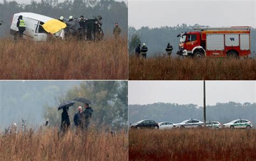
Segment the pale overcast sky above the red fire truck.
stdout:
[[129,26],[160,27],[177,24],[252,26],[255,28],[255,0],[129,0]]

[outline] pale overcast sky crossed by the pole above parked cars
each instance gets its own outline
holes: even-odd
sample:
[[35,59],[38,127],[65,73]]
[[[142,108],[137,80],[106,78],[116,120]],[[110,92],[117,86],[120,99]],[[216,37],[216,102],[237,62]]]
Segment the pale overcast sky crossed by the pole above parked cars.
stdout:
[[[229,101],[256,102],[256,81],[206,81],[206,105]],[[129,81],[128,102],[203,106],[203,81]]]

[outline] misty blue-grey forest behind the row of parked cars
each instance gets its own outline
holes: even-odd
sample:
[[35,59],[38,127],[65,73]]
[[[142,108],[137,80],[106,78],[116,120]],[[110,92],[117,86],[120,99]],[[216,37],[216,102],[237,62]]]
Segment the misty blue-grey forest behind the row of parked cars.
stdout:
[[[217,103],[214,106],[206,106],[206,120],[227,123],[235,119],[252,121],[256,126],[256,103]],[[129,105],[129,124],[144,119],[152,119],[157,122],[170,121],[180,123],[187,119],[203,121],[203,107],[196,104],[177,103],[153,103],[146,105]]]

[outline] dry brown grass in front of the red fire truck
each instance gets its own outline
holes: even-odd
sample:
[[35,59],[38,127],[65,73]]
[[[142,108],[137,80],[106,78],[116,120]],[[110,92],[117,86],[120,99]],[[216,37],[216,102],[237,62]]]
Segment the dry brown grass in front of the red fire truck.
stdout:
[[256,80],[256,60],[130,56],[129,80]]

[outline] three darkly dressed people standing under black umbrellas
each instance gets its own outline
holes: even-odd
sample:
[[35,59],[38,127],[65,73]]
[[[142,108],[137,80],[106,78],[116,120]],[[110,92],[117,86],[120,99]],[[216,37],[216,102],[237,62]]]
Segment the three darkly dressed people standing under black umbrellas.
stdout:
[[[75,114],[73,121],[77,129],[87,130],[90,125],[90,120],[92,118],[92,108],[89,104],[84,104],[85,110],[83,111],[82,107],[78,107],[78,112]],[[66,131],[70,128],[70,119],[69,119],[69,107],[64,107],[62,112],[62,122],[60,129]]]

